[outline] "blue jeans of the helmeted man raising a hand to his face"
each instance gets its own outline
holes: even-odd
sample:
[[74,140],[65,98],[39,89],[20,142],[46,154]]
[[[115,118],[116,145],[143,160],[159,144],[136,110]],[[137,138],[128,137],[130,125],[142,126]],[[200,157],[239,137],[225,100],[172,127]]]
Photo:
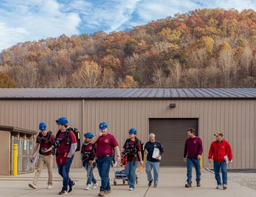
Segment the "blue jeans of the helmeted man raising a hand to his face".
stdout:
[[109,184],[109,169],[112,163],[112,159],[112,156],[99,157],[97,159],[97,168],[101,179],[100,191],[111,189]]

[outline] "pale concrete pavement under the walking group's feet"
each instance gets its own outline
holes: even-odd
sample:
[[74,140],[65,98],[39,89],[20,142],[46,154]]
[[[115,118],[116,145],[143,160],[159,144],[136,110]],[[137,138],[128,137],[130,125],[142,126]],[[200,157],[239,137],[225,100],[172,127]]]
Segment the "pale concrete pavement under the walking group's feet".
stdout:
[[[194,169],[193,169],[194,170]],[[147,187],[147,175],[145,169],[143,173],[138,172],[138,185],[134,191],[128,191],[128,186],[123,185],[122,180],[117,180],[117,186],[113,186],[113,180],[111,180],[112,193],[108,196],[147,196],[147,197],[164,197],[164,196],[232,196],[232,197],[255,197],[256,191],[248,187],[241,186],[231,180],[228,180],[228,189],[215,189],[216,181],[214,174],[209,171],[202,170],[202,182],[201,187],[196,187],[195,182],[195,170],[193,171],[193,187],[185,188],[186,184],[186,168],[160,168],[159,187]],[[62,179],[58,175],[57,170],[54,169],[54,186],[52,189],[46,189],[47,187],[47,170],[42,171],[42,175],[39,179],[37,189],[31,189],[28,187],[28,183],[33,180],[34,173],[18,175],[17,177],[5,177],[0,176],[0,196],[59,196],[58,192],[61,190]],[[84,190],[84,184],[86,182],[86,173],[84,169],[72,169],[70,173],[72,180],[77,182],[76,188],[72,193],[68,193],[68,196],[97,196],[99,193],[99,187],[97,189],[91,189],[89,191]],[[99,174],[95,170],[95,177],[99,180]],[[110,177],[114,177],[113,170],[111,169]]]

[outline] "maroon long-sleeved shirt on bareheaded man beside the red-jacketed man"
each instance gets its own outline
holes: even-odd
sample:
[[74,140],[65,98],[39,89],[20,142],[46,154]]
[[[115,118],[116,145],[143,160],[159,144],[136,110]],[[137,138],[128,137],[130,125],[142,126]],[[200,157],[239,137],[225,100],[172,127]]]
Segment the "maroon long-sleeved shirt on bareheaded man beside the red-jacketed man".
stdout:
[[203,154],[203,143],[201,138],[188,138],[185,143],[184,158],[196,159],[197,156]]

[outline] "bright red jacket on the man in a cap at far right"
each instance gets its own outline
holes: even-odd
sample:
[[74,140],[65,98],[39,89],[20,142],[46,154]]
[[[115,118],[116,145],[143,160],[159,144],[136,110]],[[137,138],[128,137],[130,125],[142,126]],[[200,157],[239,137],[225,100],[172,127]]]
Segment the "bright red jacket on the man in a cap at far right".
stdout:
[[217,140],[212,142],[208,158],[211,159],[212,156],[213,161],[217,162],[225,161],[225,156],[228,156],[229,161],[232,160],[232,150],[227,140],[223,139],[221,142]]

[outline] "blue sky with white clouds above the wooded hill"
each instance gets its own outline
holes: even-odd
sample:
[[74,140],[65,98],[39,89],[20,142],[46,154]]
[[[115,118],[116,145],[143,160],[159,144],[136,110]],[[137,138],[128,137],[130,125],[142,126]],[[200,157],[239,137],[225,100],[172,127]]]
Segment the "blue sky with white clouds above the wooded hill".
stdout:
[[201,8],[256,10],[256,0],[0,0],[0,50],[61,34],[127,30]]

